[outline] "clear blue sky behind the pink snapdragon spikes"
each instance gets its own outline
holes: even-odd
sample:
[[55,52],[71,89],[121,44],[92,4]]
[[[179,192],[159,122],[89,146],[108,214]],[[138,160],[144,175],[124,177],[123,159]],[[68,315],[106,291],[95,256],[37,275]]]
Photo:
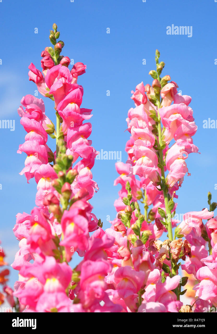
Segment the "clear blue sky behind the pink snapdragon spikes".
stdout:
[[[27,184],[22,170],[25,154],[16,153],[24,142],[25,131],[20,125],[17,108],[24,95],[36,89],[28,80],[28,65],[39,69],[40,54],[50,46],[49,29],[55,22],[64,41],[63,55],[87,65],[79,77],[84,88],[83,108],[93,109],[93,146],[100,151],[122,151],[126,161],[125,144],[127,112],[134,107],[131,90],[141,81],[152,82],[148,75],[155,69],[155,50],[165,61],[164,75],[169,74],[179,85],[182,94],[192,96],[191,107],[198,125],[194,144],[199,154],[187,159],[190,177],[185,177],[178,191],[177,213],[199,211],[206,206],[207,192],[217,201],[216,139],[217,129],[203,129],[203,120],[217,119],[216,115],[216,44],[217,3],[210,1],[155,0],[62,0],[0,2],[0,120],[15,120],[15,131],[0,129],[0,240],[12,263],[18,250],[13,235],[17,212],[30,212],[34,207],[36,183]],[[192,37],[167,35],[167,26],[192,26]],[[38,28],[38,34],[34,29]],[[110,28],[110,34],[106,33]],[[146,59],[146,65],[143,65]],[[106,91],[110,96],[106,96]],[[40,96],[38,96],[40,97]],[[45,100],[45,99],[44,99]],[[52,101],[46,99],[46,114],[55,121]],[[54,143],[50,140],[51,148]],[[118,176],[114,160],[96,160],[92,169],[99,192],[91,204],[93,212],[110,226],[106,216],[115,218],[113,206],[120,187],[114,187]],[[11,269],[11,284],[17,272]]]

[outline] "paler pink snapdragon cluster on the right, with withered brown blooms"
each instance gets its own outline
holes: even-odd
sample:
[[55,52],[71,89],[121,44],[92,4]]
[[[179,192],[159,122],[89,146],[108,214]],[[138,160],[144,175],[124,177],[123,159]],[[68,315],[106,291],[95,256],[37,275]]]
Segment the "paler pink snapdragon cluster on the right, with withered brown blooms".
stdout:
[[[129,292],[118,294],[132,312],[192,312],[194,304],[194,312],[203,312],[204,306],[216,306],[216,273],[212,272],[216,263],[217,220],[212,218],[216,203],[211,204],[208,195],[209,210],[187,212],[181,222],[176,219],[173,199],[178,198],[176,192],[185,174],[191,175],[186,159],[189,153],[198,152],[192,139],[197,126],[189,106],[191,97],[178,93],[178,85],[169,75],[160,77],[165,63],[159,63],[159,57],[156,50],[157,69],[149,73],[154,79],[152,86],[141,82],[132,91],[135,108],[126,119],[131,134],[126,144],[128,159],[116,163],[120,176],[114,185],[120,183],[122,188],[114,203],[117,217],[111,228],[125,235],[127,243],[118,252],[123,262],[117,263],[115,276],[128,269],[131,283],[140,282],[140,273],[142,277],[134,291],[134,304],[133,297],[128,304]],[[206,225],[203,220],[208,220]],[[167,239],[161,241],[164,232],[168,232]],[[211,255],[207,257],[208,246]],[[186,276],[178,275],[180,268]],[[188,278],[193,280],[189,288]],[[187,289],[182,291],[184,286]],[[185,292],[193,297],[192,305],[180,301]]]

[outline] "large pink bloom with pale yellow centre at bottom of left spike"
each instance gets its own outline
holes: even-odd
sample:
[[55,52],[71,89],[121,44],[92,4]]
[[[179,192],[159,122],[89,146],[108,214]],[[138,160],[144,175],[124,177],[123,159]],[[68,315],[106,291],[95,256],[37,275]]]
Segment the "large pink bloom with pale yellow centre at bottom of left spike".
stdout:
[[53,257],[38,259],[23,266],[20,275],[25,281],[14,294],[33,312],[61,312],[71,305],[65,289],[71,281],[72,270],[66,263],[57,263]]

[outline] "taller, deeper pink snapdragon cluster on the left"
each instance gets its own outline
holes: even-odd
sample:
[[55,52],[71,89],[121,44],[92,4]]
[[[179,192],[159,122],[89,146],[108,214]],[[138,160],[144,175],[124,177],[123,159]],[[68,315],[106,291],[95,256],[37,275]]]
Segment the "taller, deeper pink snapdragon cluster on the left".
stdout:
[[[77,84],[86,65],[78,62],[69,70],[70,59],[60,55],[64,43],[57,42],[58,37],[54,24],[49,36],[54,48],[42,51],[42,72],[32,63],[29,66],[29,79],[54,101],[56,127],[45,115],[42,99],[26,95],[18,109],[27,132],[18,150],[27,154],[20,174],[25,174],[27,182],[34,178],[37,183],[37,206],[30,214],[18,213],[13,228],[20,248],[12,264],[19,271],[14,295],[25,312],[72,312],[74,277],[79,281],[81,277],[68,262],[74,252],[84,256],[90,247],[89,233],[101,225],[88,201],[98,190],[91,173],[98,152],[88,140],[91,124],[83,123],[92,115],[90,109],[80,108],[83,88]],[[48,135],[56,139],[55,151],[47,146]],[[90,260],[82,261],[82,268]],[[73,306],[74,312],[79,307],[82,304]]]

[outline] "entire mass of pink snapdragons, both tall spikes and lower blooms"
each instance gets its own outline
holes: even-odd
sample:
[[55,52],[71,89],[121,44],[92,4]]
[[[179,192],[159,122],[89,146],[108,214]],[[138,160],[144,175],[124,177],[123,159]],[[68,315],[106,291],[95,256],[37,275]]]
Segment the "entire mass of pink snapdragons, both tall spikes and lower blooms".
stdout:
[[[18,109],[27,132],[18,150],[27,154],[20,174],[27,182],[35,179],[37,193],[31,213],[16,216],[19,251],[12,267],[19,280],[14,293],[6,288],[8,298],[14,303],[15,296],[17,310],[24,312],[203,312],[203,307],[217,307],[217,203],[211,203],[209,193],[209,210],[187,212],[181,220],[175,213],[176,192],[190,176],[186,159],[198,152],[191,97],[178,93],[169,75],[160,77],[165,63],[156,50],[152,86],[141,82],[132,91],[128,158],[116,164],[115,185],[121,184],[117,216],[103,230],[89,203],[98,191],[91,173],[98,152],[88,139],[92,115],[81,108],[83,88],[77,83],[86,65],[77,62],[70,70],[58,38],[53,24],[49,39],[54,47],[41,53],[42,72],[29,65],[29,80],[54,102],[56,124],[45,115],[42,99],[26,95]],[[48,136],[56,140],[54,150]],[[75,252],[81,261],[74,267]],[[190,305],[181,301],[185,293]]]

